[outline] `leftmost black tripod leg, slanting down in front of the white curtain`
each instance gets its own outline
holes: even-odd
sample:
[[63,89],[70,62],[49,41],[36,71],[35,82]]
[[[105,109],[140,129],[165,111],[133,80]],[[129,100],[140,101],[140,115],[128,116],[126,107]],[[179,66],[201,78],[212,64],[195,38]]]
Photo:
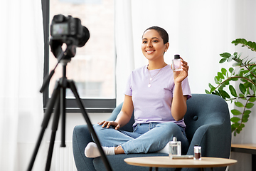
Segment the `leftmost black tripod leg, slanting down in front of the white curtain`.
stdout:
[[50,98],[50,101],[47,104],[47,110],[46,110],[46,113],[44,115],[43,122],[41,124],[41,132],[40,132],[40,134],[38,136],[38,140],[36,142],[36,147],[35,147],[35,149],[33,151],[33,155],[31,157],[31,161],[29,162],[28,171],[32,170],[33,164],[34,164],[34,162],[36,160],[36,155],[38,153],[39,147],[40,147],[41,142],[43,140],[43,134],[45,133],[45,130],[46,130],[47,126],[48,126],[48,123],[49,123],[49,120],[50,120],[50,115],[53,112],[53,106],[54,106],[54,103],[55,103],[55,99],[58,96],[58,89],[59,88],[60,88],[59,87],[59,83],[57,83],[56,86],[55,86],[55,90],[53,90],[53,95],[52,95],[52,97]]

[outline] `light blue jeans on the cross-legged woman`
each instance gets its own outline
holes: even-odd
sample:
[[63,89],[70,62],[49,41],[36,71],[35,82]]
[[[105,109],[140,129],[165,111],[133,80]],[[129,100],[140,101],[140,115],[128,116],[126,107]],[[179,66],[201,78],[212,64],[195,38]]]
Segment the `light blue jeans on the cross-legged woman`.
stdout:
[[122,146],[125,154],[157,152],[176,137],[181,141],[181,153],[186,154],[189,146],[186,133],[176,123],[143,123],[137,124],[134,131],[114,130],[94,125],[95,132],[103,147]]

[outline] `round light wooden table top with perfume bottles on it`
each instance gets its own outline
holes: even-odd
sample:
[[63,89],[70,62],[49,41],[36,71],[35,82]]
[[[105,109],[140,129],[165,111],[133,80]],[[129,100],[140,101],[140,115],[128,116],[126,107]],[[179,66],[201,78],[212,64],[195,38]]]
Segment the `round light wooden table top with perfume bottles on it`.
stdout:
[[237,160],[226,159],[220,157],[202,157],[202,160],[193,160],[193,159],[173,159],[171,160],[168,156],[157,156],[157,157],[131,157],[124,159],[124,162],[127,162],[129,165],[149,167],[149,170],[152,170],[152,167],[173,167],[173,168],[182,168],[182,167],[197,167],[205,168],[210,167],[226,167],[228,165],[234,165]]

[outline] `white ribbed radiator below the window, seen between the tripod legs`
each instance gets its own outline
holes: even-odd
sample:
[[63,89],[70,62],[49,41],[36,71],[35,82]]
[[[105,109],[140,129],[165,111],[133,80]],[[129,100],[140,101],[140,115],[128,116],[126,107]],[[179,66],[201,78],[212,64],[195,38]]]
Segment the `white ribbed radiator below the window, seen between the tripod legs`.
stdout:
[[65,142],[65,145],[66,147],[60,147],[60,142],[55,142],[50,171],[78,171],[75,167],[72,142]]

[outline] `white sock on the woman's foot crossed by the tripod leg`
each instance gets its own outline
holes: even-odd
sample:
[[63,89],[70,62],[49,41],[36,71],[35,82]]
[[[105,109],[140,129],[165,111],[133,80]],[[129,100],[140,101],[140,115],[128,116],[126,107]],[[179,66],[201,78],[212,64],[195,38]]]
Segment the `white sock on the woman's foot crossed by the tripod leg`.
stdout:
[[[105,155],[114,155],[114,147],[102,147]],[[89,158],[100,157],[100,151],[95,142],[90,142],[85,147],[85,156]]]

